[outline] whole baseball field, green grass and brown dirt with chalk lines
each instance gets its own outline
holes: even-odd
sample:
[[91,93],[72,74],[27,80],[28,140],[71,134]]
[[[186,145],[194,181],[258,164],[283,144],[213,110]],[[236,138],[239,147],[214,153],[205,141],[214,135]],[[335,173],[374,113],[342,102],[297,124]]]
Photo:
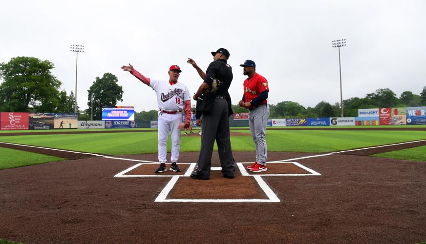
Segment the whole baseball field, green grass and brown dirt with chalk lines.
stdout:
[[268,171],[249,172],[250,130],[232,128],[235,178],[213,152],[211,179],[198,181],[197,133],[181,137],[182,172],[154,174],[156,130],[0,131],[0,239],[426,241],[426,126],[268,128],[266,140]]

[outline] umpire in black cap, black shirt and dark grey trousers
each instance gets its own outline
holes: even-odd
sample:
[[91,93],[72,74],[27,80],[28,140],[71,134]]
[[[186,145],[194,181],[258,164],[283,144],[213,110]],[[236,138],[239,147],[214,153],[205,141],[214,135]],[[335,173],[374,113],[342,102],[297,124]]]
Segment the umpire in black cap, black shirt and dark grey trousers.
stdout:
[[197,109],[197,112],[203,114],[203,133],[198,169],[191,174],[191,178],[197,180],[208,180],[210,178],[214,140],[217,143],[223,176],[232,179],[235,172],[229,138],[230,112],[227,102],[230,99],[228,89],[233,78],[232,67],[227,63],[229,52],[225,48],[219,48],[212,52],[212,55],[214,61],[207,68],[204,82],[192,97],[195,101],[198,101],[201,94],[204,94]]

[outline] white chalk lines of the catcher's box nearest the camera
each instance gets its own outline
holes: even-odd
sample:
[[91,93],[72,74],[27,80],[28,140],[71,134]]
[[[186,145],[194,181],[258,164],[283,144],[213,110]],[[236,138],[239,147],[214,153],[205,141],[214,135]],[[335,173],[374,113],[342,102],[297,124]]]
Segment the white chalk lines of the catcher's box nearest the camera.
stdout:
[[179,203],[279,203],[279,199],[274,191],[263,181],[262,177],[255,175],[254,178],[259,184],[260,188],[266,194],[268,199],[167,199],[171,189],[179,180],[180,176],[172,176],[169,183],[163,188],[158,194],[158,197],[154,202],[167,203],[167,202],[179,202]]

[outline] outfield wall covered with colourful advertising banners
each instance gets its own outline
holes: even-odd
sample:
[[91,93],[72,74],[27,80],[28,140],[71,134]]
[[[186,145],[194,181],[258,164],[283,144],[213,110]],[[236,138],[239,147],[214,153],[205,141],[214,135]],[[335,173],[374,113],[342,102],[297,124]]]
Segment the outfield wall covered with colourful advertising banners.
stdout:
[[[157,128],[157,121],[78,121],[71,113],[0,113],[1,130]],[[426,107],[359,109],[358,117],[268,119],[267,126],[425,125]],[[193,121],[195,122],[195,121]],[[230,117],[231,127],[249,127],[248,113]]]

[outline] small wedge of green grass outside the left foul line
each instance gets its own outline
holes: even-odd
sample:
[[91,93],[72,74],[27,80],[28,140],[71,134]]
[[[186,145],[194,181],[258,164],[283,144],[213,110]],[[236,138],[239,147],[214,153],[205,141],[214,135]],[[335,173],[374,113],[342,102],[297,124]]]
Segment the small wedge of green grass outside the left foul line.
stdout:
[[3,147],[0,147],[0,155],[0,169],[17,168],[21,166],[64,160],[57,157],[42,155],[38,153],[24,152],[21,150],[14,150]]

